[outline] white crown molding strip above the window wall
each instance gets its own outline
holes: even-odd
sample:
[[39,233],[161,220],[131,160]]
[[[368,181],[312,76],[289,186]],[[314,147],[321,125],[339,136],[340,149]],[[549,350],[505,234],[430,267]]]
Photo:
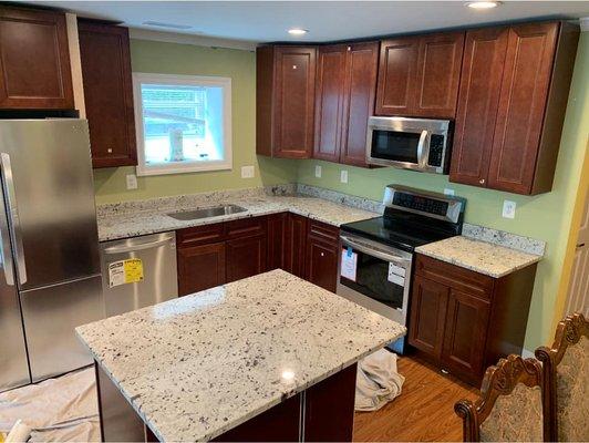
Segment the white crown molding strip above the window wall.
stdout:
[[195,35],[179,32],[153,31],[141,28],[130,28],[128,32],[132,39],[194,44],[196,47],[227,48],[238,49],[241,51],[255,51],[257,47],[256,42],[247,40],[219,39],[215,37]]

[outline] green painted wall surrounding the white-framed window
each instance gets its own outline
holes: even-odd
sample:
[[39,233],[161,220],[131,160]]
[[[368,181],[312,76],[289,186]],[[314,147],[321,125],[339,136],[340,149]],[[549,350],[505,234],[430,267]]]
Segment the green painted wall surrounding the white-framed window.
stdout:
[[[131,41],[134,72],[220,75],[231,78],[234,168],[137,177],[138,188],[126,190],[125,175],[134,167],[94,171],[96,203],[145,199],[215,189],[246,188],[292,183],[298,164],[256,156],[256,54],[250,51],[211,49],[147,40]],[[241,166],[254,165],[255,178],[241,178]]]

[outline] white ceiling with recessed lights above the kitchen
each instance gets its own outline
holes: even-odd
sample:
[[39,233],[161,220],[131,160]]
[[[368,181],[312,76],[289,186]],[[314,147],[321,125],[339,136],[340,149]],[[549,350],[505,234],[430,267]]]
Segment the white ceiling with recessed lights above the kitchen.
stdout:
[[[27,2],[27,1],[25,1]],[[29,1],[31,2],[31,1]],[[589,1],[504,1],[477,11],[463,1],[37,1],[83,17],[158,31],[145,21],[189,25],[167,30],[249,42],[330,41],[535,18],[589,16]],[[293,38],[286,31],[308,29]]]

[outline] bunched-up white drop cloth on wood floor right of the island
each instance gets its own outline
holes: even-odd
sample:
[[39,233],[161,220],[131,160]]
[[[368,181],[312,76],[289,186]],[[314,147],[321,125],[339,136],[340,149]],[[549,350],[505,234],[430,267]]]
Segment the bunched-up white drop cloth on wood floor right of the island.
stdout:
[[401,394],[405,378],[396,370],[396,354],[381,349],[358,363],[355,410],[376,411]]

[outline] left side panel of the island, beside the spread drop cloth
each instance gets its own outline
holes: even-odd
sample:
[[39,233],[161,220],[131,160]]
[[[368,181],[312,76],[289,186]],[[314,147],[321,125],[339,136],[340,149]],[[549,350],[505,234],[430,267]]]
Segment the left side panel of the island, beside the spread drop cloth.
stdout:
[[121,391],[94,362],[103,442],[156,442]]

